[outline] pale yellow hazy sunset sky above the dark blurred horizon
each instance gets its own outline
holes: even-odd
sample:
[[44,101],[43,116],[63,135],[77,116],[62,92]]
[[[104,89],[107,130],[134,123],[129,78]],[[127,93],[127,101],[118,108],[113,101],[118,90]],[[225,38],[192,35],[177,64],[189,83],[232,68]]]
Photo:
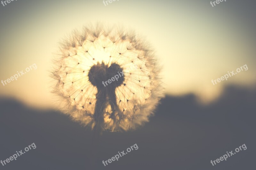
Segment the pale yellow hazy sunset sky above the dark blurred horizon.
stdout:
[[[0,4],[2,5],[2,4]],[[121,24],[144,37],[163,68],[165,93],[195,93],[207,103],[226,85],[255,87],[255,2],[228,0],[214,7],[203,0],[19,0],[0,6],[0,81],[36,64],[7,85],[0,95],[25,104],[54,107],[50,72],[59,43],[89,23]],[[241,71],[215,80],[244,65]]]

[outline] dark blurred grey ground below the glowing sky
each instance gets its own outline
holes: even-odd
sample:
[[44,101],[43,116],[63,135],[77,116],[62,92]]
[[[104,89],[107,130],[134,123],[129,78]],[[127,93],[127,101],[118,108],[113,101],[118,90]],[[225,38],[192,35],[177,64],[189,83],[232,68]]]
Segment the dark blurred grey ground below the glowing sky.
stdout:
[[[145,126],[124,133],[105,132],[97,144],[92,140],[91,130],[72,122],[67,115],[32,109],[17,100],[2,98],[0,160],[24,151],[32,143],[36,149],[5,166],[0,164],[0,169],[255,169],[256,90],[228,87],[218,101],[204,107],[196,103],[194,95],[167,96],[161,102],[156,115]],[[108,166],[102,164],[102,160],[111,159],[135,143],[138,150]],[[210,163],[242,144],[247,150],[215,166]]]

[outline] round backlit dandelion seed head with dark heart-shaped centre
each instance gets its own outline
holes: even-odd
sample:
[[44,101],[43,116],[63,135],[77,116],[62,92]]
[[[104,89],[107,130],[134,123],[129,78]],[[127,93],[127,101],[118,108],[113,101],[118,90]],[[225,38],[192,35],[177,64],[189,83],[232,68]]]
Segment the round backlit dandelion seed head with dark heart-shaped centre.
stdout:
[[[74,31],[60,55],[52,71],[54,92],[65,113],[92,129],[135,129],[148,121],[163,97],[153,50],[116,26]],[[124,75],[108,83],[120,72]]]

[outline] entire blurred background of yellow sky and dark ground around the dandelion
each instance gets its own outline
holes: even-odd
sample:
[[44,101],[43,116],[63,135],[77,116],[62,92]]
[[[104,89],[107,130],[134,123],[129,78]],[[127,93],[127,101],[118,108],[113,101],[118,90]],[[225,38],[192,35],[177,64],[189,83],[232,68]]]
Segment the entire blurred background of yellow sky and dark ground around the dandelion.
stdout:
[[[227,0],[17,0],[0,4],[0,159],[37,148],[0,169],[253,169],[256,2]],[[92,132],[55,109],[50,72],[58,43],[91,22],[120,23],[156,49],[166,98],[156,116],[132,132],[104,133],[93,155]],[[213,85],[228,71],[248,70]],[[137,143],[139,149],[104,167]],[[236,147],[247,150],[212,166]],[[34,153],[33,153],[34,152]],[[90,167],[92,166],[92,167]],[[26,167],[26,168],[25,168]]]

